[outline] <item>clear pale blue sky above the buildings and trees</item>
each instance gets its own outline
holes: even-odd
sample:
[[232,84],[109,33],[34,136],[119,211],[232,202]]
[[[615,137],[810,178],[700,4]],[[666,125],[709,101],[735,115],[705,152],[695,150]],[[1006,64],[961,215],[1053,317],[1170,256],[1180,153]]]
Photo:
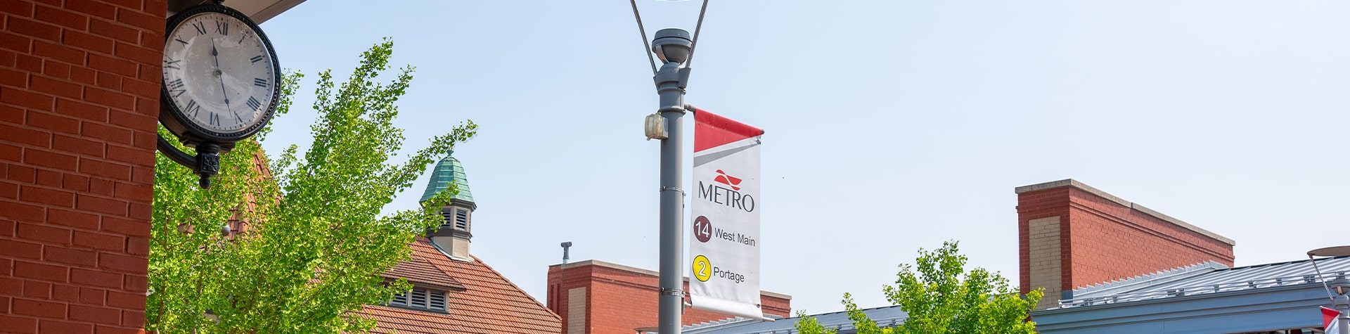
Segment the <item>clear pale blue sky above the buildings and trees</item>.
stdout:
[[[641,0],[648,32],[698,1]],[[1018,185],[1077,178],[1238,241],[1238,265],[1343,245],[1345,1],[713,1],[688,101],[764,137],[763,288],[883,306],[960,239],[1017,280]],[[574,260],[656,268],[656,105],[628,1],[310,0],[263,24],[310,74],[266,147],[308,143],[313,73],[382,37],[417,66],[410,147],[464,119],[473,253],[544,300]],[[390,204],[410,208],[425,177]]]

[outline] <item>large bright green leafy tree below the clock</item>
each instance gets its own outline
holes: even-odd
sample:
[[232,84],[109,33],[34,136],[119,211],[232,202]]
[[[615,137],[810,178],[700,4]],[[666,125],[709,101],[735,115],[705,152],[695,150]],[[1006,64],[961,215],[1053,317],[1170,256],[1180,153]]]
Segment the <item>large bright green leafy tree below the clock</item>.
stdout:
[[[381,215],[394,195],[412,187],[433,158],[477,133],[467,122],[435,137],[402,164],[393,126],[396,101],[408,89],[412,66],[390,82],[393,42],[362,53],[347,82],[319,74],[304,154],[292,145],[271,161],[255,141],[221,156],[209,189],[163,156],[155,161],[147,329],[161,333],[351,333],[367,331],[363,304],[378,304],[409,288],[381,273],[409,257],[418,233],[441,223],[439,208],[454,189],[420,210]],[[277,114],[290,110],[301,74],[288,73]],[[270,128],[259,133],[266,139]],[[227,235],[227,220],[247,222]]]

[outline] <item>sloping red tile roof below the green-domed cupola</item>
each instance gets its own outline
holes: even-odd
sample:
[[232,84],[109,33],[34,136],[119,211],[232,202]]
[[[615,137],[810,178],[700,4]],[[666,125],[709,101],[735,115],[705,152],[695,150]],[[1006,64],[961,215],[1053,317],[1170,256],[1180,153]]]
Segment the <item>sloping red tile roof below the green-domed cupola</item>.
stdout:
[[[531,297],[516,284],[474,257],[456,261],[437,250],[427,238],[418,237],[412,245],[413,260],[425,261],[464,291],[446,295],[448,314],[414,311],[397,307],[367,306],[363,314],[379,322],[377,333],[520,333],[558,334],[562,319]],[[406,277],[406,276],[404,276]],[[414,277],[408,277],[416,284]]]

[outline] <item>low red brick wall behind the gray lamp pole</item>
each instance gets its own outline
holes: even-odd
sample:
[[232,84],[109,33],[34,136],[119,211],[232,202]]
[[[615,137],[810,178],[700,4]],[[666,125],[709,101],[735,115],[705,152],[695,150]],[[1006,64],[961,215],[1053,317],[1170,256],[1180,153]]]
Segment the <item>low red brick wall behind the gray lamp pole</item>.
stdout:
[[[579,265],[548,268],[548,308],[563,319],[563,333],[567,333],[567,291],[586,287],[586,333],[633,333],[637,327],[657,325],[657,276],[602,265]],[[688,283],[684,284],[686,291]],[[765,315],[790,316],[791,300],[761,295],[760,303]],[[702,310],[686,308],[682,323],[732,318]]]

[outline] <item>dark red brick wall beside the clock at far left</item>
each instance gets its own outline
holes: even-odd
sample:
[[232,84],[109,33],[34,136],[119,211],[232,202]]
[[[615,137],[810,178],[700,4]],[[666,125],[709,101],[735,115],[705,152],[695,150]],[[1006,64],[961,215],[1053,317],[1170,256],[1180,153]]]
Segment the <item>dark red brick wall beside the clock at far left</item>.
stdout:
[[163,0],[0,0],[0,330],[144,325]]

